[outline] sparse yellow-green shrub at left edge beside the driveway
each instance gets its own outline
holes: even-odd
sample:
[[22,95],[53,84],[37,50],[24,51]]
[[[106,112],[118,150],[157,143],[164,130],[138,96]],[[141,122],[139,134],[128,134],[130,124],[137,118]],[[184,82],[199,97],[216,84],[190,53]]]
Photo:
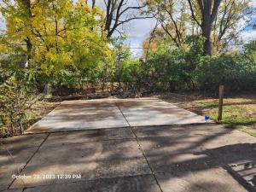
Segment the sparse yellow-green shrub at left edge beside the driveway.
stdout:
[[2,136],[22,133],[26,111],[36,102],[35,91],[14,77],[0,85],[0,125]]

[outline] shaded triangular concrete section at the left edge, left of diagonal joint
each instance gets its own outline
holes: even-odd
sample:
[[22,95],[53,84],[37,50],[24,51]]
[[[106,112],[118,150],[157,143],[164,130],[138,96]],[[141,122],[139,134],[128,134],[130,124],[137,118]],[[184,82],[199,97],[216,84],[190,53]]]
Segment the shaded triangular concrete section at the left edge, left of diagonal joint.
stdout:
[[[17,174],[26,166],[26,162],[36,152],[38,147],[19,148],[15,150],[0,151],[0,190],[7,189],[11,182],[13,174]],[[11,155],[10,155],[10,154]]]

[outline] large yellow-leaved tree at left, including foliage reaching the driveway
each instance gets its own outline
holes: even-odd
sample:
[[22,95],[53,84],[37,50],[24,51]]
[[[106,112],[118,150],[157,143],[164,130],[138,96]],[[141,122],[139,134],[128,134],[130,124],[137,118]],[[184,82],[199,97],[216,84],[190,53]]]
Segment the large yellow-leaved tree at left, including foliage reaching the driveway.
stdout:
[[49,91],[70,74],[90,79],[93,71],[104,71],[112,51],[102,10],[84,0],[2,0],[0,10],[5,24],[0,30],[1,137],[23,131],[37,95],[28,90],[45,84]]

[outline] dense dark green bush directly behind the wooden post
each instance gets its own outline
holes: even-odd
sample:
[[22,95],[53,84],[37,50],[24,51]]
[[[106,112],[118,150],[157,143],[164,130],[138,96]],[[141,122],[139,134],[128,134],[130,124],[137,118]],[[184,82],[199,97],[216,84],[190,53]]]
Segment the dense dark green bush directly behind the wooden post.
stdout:
[[196,69],[196,79],[201,90],[218,90],[219,84],[232,91],[254,90],[255,67],[242,55],[202,57]]

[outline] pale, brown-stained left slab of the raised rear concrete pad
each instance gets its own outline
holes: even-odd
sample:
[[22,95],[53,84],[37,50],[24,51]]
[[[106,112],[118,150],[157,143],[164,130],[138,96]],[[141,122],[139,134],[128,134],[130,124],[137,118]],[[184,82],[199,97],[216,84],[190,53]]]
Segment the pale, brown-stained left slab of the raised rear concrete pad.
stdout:
[[129,126],[108,100],[62,102],[26,133],[79,131]]

